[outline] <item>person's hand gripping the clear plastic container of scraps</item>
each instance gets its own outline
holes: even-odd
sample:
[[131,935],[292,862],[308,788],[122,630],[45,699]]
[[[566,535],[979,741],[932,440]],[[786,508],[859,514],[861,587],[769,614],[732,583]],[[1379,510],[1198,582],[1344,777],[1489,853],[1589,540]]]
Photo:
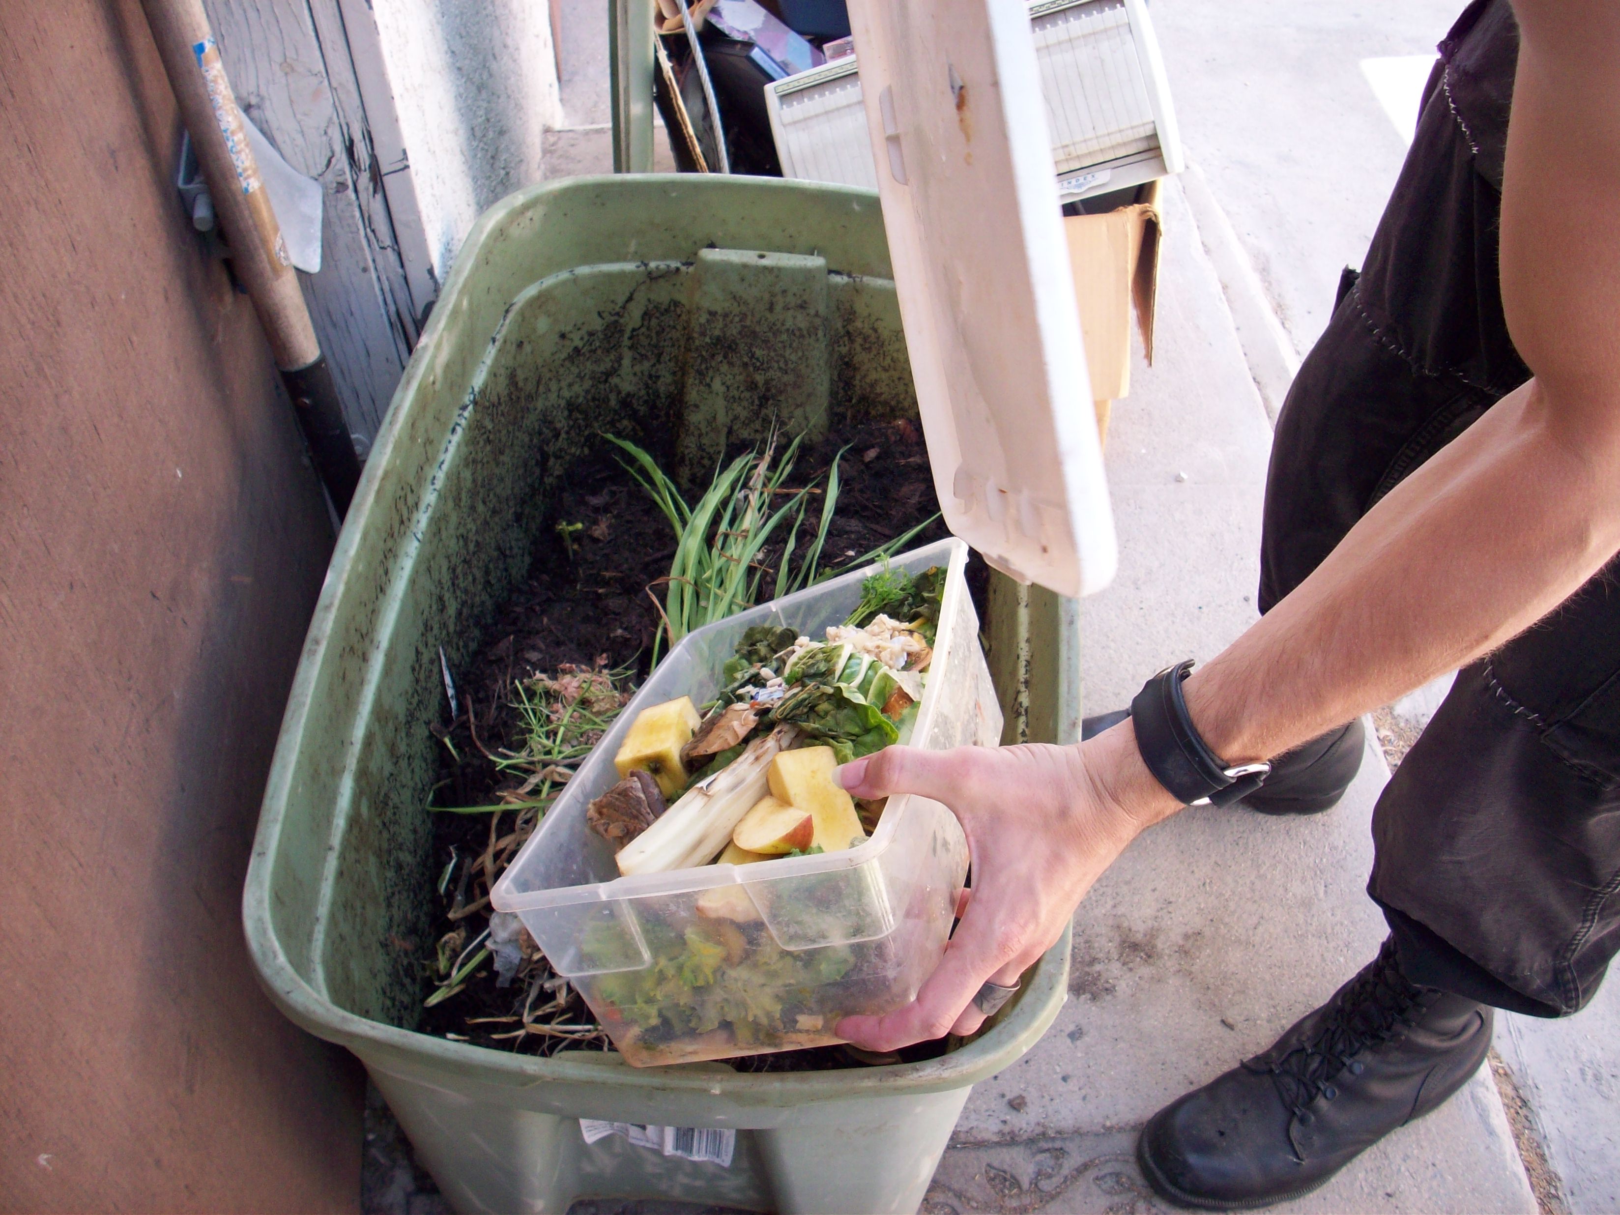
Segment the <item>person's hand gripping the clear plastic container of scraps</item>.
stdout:
[[1084,747],[889,747],[839,768],[855,797],[920,794],[949,807],[967,833],[974,885],[917,1000],[881,1017],[844,1017],[838,1035],[888,1051],[977,1030],[985,1016],[972,1000],[983,982],[1017,983],[1126,844],[1178,808],[1152,776],[1144,786],[1119,771],[1131,760],[1147,776],[1126,723]]

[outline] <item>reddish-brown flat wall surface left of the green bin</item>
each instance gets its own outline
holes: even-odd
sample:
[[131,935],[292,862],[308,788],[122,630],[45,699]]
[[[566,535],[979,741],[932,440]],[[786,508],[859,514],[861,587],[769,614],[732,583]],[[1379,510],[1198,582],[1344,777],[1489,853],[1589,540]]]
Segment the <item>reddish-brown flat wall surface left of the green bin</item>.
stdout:
[[319,486],[141,5],[0,5],[0,1210],[355,1210],[241,932]]

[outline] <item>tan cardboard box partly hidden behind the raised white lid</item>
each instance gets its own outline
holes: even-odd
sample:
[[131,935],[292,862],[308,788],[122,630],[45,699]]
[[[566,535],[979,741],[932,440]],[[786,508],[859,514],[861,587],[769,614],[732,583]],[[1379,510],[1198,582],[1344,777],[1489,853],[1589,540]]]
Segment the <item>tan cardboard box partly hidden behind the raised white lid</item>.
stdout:
[[1142,350],[1153,361],[1158,296],[1158,181],[1087,199],[1095,214],[1064,215],[1069,269],[1081,306],[1085,363],[1092,376],[1097,429],[1106,439],[1110,407],[1131,392],[1131,313]]

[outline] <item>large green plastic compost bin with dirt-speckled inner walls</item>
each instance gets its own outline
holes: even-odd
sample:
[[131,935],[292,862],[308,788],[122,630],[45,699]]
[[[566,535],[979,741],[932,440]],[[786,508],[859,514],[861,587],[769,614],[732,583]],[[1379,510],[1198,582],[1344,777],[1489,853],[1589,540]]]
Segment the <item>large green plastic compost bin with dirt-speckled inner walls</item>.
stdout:
[[[548,183],[486,212],[411,356],[339,536],[282,726],[243,917],[280,1009],[348,1047],[462,1212],[664,1197],[781,1212],[915,1210],[970,1087],[1064,1000],[1064,936],[977,1040],[888,1068],[635,1069],[416,1034],[439,648],[478,648],[549,504],[603,429],[667,458],[915,416],[878,198],[766,178]],[[710,465],[713,467],[713,465]],[[1009,739],[1079,729],[1074,604],[991,582]],[[734,1128],[729,1168],[578,1119]]]

